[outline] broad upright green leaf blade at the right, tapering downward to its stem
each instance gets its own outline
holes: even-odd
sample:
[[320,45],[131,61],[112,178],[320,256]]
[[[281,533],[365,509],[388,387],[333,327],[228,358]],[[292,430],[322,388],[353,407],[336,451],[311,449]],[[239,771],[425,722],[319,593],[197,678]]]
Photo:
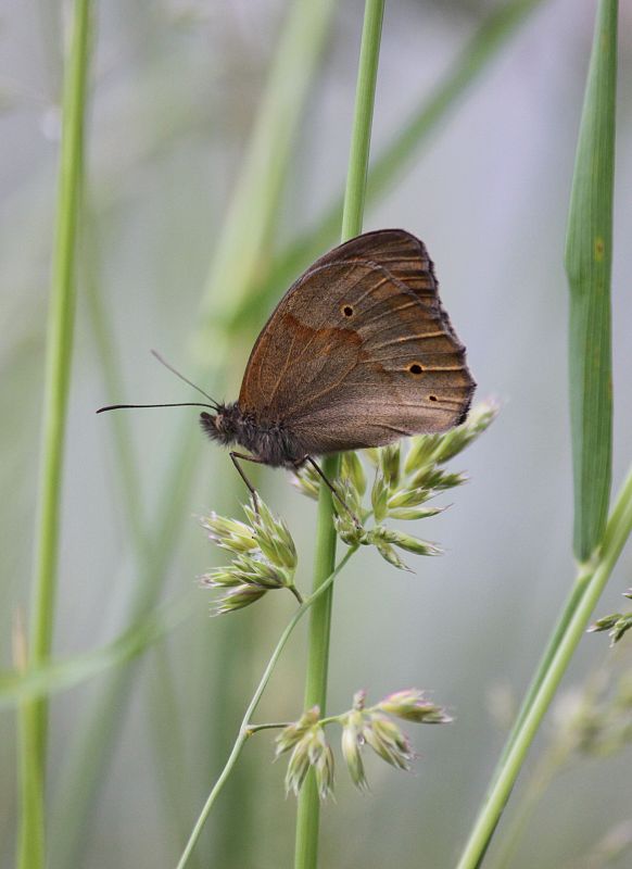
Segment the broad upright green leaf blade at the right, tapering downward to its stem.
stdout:
[[617,11],[617,0],[601,0],[576,155],[565,255],[570,290],[573,549],[580,562],[587,561],[602,541],[610,496]]

